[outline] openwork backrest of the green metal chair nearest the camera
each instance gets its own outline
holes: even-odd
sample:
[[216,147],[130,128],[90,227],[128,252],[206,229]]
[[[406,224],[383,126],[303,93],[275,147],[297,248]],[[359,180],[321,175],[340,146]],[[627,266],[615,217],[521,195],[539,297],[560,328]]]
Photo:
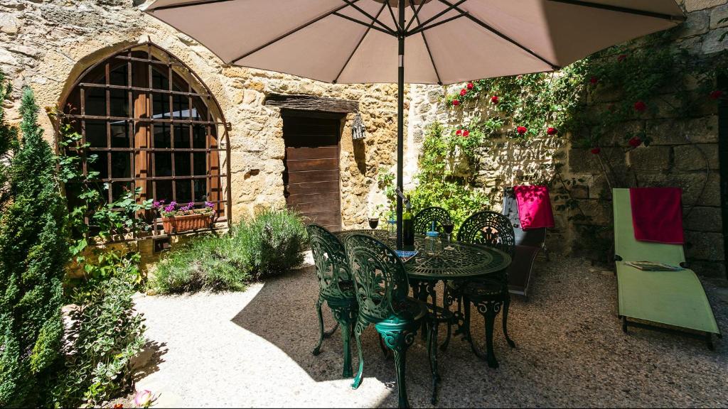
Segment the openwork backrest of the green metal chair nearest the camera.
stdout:
[[394,250],[365,234],[344,242],[354,278],[359,314],[381,320],[397,314],[409,293],[405,266]]

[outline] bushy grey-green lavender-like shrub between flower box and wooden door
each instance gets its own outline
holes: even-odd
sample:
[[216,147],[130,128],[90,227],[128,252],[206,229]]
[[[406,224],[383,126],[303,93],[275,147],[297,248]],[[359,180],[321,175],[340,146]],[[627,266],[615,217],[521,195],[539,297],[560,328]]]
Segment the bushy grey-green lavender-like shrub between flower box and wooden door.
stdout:
[[152,285],[160,293],[244,290],[303,262],[306,230],[289,210],[266,210],[220,237],[192,239],[157,266]]

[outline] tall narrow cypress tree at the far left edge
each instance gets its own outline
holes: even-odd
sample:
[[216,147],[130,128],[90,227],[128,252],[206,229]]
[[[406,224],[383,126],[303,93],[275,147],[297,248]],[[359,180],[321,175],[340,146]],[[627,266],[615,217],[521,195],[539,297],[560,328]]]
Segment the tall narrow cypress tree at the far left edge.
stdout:
[[60,368],[66,202],[38,106],[25,87],[20,146],[9,167],[0,218],[0,406],[37,406]]

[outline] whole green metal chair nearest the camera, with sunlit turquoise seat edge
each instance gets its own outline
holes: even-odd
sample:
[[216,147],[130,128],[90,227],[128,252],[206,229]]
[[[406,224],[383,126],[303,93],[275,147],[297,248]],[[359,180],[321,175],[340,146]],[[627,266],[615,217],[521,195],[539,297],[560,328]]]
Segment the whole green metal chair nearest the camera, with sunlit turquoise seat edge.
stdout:
[[[359,301],[359,317],[354,330],[359,349],[359,371],[352,388],[359,387],[364,371],[361,335],[373,324],[384,339],[384,344],[394,352],[399,406],[408,408],[405,357],[408,347],[414,342],[417,329],[427,319],[427,304],[407,296],[409,285],[405,267],[395,251],[387,245],[364,234],[352,234],[344,245]],[[429,342],[428,352],[432,369],[432,348]],[[435,370],[432,372],[435,373]]]

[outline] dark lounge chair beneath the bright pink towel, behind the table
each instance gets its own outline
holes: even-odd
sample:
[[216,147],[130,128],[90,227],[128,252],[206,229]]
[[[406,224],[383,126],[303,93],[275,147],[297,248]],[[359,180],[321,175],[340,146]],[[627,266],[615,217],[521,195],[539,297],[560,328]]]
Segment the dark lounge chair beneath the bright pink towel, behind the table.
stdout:
[[531,273],[539,251],[543,250],[546,260],[549,259],[546,250],[546,228],[521,229],[518,202],[513,194],[513,188],[505,188],[503,193],[503,215],[513,224],[515,232],[515,255],[508,269],[508,291],[511,294],[523,295],[527,299]]

